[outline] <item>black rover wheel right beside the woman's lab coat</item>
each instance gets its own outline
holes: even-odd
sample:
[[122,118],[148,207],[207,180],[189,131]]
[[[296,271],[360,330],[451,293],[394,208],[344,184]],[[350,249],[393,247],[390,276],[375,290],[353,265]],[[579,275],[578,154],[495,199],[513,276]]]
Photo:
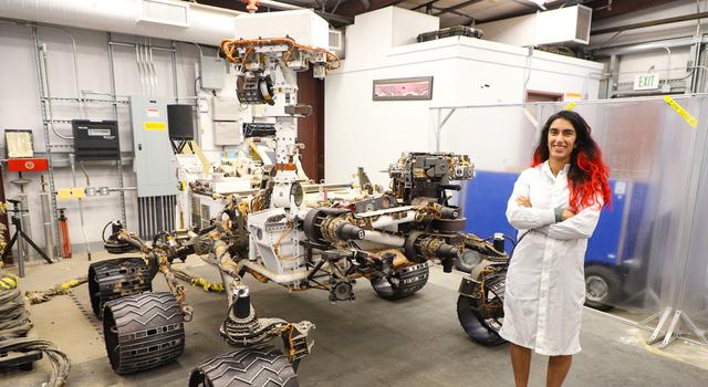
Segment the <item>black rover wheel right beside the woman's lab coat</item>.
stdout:
[[478,307],[478,300],[467,295],[457,299],[457,318],[465,333],[475,342],[482,345],[499,345],[506,342],[499,336],[501,328],[500,316],[483,315]]

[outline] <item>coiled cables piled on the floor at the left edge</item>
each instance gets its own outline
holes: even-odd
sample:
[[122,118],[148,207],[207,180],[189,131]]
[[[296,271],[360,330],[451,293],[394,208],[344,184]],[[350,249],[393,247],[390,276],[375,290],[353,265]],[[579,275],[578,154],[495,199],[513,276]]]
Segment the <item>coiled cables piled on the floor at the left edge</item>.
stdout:
[[48,341],[24,337],[31,328],[18,278],[0,271],[0,353],[41,351],[52,366],[52,375],[44,386],[64,386],[71,368],[69,356]]

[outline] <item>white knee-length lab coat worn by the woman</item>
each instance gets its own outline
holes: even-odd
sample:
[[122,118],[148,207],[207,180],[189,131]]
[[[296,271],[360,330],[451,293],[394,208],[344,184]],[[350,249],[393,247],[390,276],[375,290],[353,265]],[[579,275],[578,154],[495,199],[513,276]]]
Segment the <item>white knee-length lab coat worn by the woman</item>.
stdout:
[[[499,334],[548,356],[581,351],[583,261],[602,208],[600,203],[584,208],[576,216],[555,222],[554,209],[569,208],[569,168],[565,165],[553,176],[545,161],[524,170],[507,206],[507,219],[519,230],[519,237],[529,229],[535,230],[520,241],[509,264],[504,321]],[[531,199],[532,207],[519,206],[519,196]]]

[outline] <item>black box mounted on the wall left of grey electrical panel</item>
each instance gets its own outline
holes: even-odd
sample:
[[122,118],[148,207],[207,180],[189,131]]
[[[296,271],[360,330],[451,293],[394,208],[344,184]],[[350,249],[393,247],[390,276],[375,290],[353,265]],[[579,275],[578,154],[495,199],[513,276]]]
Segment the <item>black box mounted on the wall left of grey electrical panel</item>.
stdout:
[[121,159],[117,122],[74,119],[71,124],[77,161]]

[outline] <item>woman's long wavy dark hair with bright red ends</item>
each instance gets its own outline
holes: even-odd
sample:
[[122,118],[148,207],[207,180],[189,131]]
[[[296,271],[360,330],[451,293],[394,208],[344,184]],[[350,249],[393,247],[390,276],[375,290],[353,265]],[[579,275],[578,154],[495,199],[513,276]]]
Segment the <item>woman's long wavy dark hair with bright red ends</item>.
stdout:
[[576,135],[575,148],[571,153],[571,168],[568,171],[571,208],[577,212],[580,207],[597,203],[597,199],[602,199],[603,207],[611,206],[612,194],[607,182],[610,170],[602,160],[602,151],[597,143],[591,136],[590,125],[580,114],[561,111],[549,118],[543,126],[539,145],[533,151],[531,166],[535,167],[549,159],[549,129],[551,124],[559,118],[570,122]]

